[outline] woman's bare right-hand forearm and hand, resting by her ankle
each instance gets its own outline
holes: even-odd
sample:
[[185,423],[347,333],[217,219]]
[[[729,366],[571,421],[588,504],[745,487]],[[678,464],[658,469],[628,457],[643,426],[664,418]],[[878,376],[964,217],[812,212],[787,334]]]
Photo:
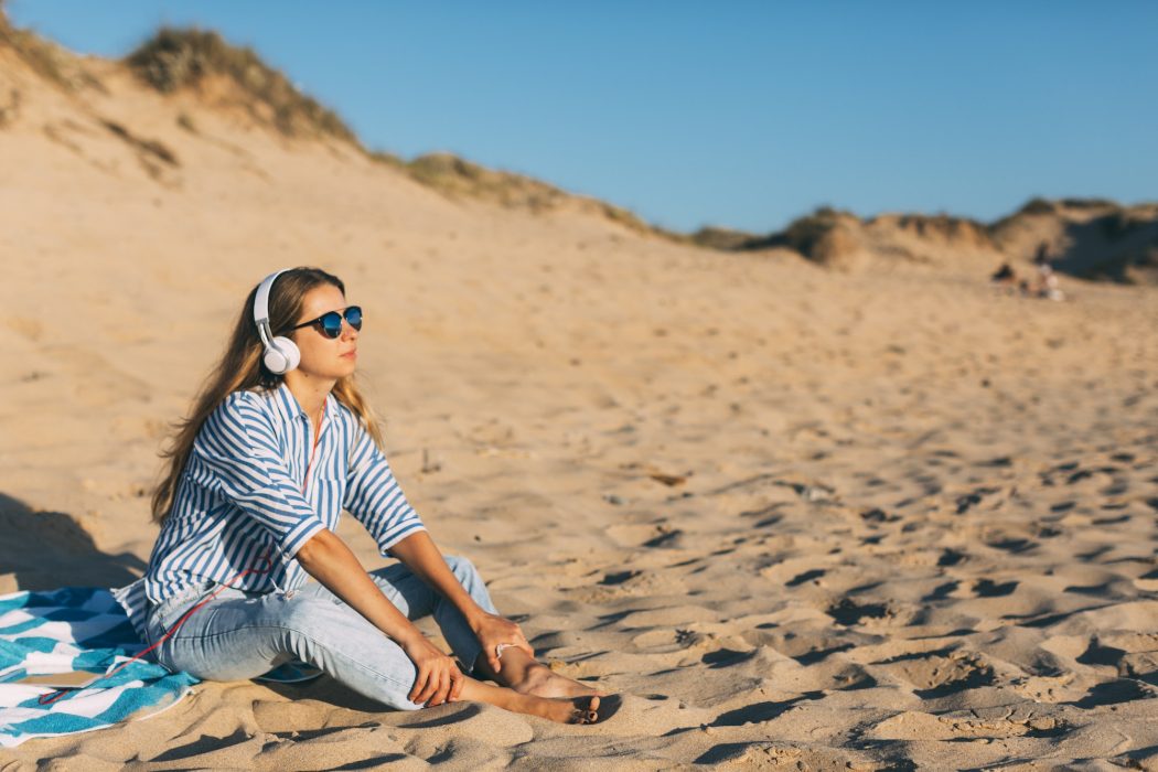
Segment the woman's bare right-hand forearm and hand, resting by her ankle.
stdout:
[[[390,552],[462,612],[462,616],[467,618],[467,624],[475,631],[478,642],[482,644],[483,654],[486,655],[486,661],[494,672],[503,669],[497,649],[499,644],[516,646],[525,650],[528,656],[535,656],[535,650],[527,642],[519,625],[504,617],[489,613],[475,603],[475,600],[450,572],[450,567],[446,565],[442,553],[430,534],[426,531],[411,534],[391,546]],[[468,667],[472,664],[472,662],[467,663]]]

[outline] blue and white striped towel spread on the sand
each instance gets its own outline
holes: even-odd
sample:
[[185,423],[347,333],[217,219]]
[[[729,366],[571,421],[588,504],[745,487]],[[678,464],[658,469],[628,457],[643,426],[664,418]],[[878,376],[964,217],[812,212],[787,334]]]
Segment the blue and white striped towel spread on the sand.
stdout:
[[39,698],[57,690],[10,683],[35,674],[108,672],[144,648],[108,589],[66,587],[0,596],[0,748],[29,737],[101,729],[175,705],[197,679],[144,659],[47,705]]

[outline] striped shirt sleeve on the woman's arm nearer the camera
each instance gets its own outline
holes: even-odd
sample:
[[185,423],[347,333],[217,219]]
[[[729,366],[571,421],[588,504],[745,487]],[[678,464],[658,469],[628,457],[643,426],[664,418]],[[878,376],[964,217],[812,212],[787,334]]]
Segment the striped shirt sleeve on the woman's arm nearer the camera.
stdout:
[[290,475],[270,419],[248,397],[229,395],[210,414],[193,453],[213,472],[220,493],[261,523],[278,550],[292,558],[325,524]]

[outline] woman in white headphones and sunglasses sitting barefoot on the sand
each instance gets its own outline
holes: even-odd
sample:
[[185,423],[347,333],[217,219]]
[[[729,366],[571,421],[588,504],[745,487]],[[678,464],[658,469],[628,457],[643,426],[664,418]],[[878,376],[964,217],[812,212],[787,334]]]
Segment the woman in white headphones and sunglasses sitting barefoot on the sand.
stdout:
[[[361,309],[318,269],[249,294],[153,495],[157,661],[234,681],[296,657],[395,708],[472,700],[596,721],[600,694],[536,662],[475,567],[444,558],[406,502],[354,383],[360,330]],[[367,573],[335,532],[343,509],[401,563]],[[478,679],[411,622],[427,613]]]

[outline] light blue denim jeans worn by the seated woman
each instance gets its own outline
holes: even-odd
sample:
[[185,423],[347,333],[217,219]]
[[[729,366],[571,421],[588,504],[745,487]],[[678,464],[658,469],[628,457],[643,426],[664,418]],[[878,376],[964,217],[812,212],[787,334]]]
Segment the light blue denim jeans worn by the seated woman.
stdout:
[[[475,602],[497,613],[475,566],[464,558],[448,556],[446,561]],[[464,672],[471,671],[482,646],[462,612],[402,564],[369,576],[408,618],[433,613]],[[219,588],[201,582],[154,605],[146,622],[149,645]],[[417,670],[402,647],[317,582],[266,594],[226,588],[154,650],[170,670],[205,681],[254,678],[296,657],[390,707],[423,707],[406,698]]]

